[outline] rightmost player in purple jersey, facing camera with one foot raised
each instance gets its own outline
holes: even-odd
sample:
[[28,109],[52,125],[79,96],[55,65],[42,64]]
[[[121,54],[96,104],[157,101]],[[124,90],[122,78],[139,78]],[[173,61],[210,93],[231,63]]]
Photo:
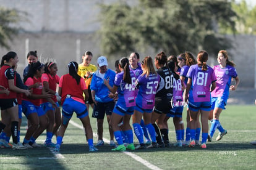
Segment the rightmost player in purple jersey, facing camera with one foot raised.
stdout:
[[[223,109],[226,109],[229,89],[231,91],[236,90],[239,84],[239,78],[236,73],[235,64],[228,60],[228,52],[221,50],[218,52],[218,63],[215,65],[213,70],[216,76],[216,88],[211,92],[211,111],[209,118],[213,121],[210,128],[210,137],[213,137],[213,134],[216,128],[220,131],[216,140],[221,140],[222,137],[227,134],[226,129],[223,129],[219,121],[220,114]],[[236,84],[231,85],[231,79],[234,78]]]

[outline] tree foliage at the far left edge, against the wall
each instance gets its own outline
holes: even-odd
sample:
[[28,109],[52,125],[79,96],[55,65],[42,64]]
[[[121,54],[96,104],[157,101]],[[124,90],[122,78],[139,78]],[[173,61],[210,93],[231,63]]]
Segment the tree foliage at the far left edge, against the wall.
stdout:
[[0,46],[9,49],[8,42],[19,33],[20,28],[17,25],[22,20],[24,12],[16,9],[6,9],[0,7]]

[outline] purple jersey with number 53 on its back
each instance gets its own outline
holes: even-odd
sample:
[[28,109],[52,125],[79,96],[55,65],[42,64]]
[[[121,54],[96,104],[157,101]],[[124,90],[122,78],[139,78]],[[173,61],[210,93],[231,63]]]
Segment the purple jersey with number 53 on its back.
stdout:
[[147,75],[140,75],[137,78],[136,86],[139,86],[139,92],[136,98],[136,103],[142,105],[143,109],[153,109],[159,81],[159,75],[155,74],[150,74],[148,77]]

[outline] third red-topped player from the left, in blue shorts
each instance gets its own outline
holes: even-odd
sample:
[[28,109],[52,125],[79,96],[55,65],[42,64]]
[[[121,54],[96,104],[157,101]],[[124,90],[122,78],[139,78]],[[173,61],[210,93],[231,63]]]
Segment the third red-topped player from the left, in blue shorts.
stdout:
[[55,147],[55,144],[51,142],[53,135],[61,126],[61,110],[59,109],[59,103],[57,102],[56,86],[59,84],[59,76],[57,75],[58,67],[54,62],[45,63],[45,73],[41,76],[41,81],[43,83],[43,88],[46,92],[53,95],[53,102],[56,103],[57,107],[53,107],[48,100],[41,99],[41,108],[45,111],[49,124],[46,128],[46,140],[45,147]]

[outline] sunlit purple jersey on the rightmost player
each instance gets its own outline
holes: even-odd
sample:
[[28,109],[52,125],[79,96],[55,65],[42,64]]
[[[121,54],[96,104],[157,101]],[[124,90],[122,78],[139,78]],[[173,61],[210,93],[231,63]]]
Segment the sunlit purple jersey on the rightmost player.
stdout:
[[226,65],[225,68],[221,68],[220,65],[215,65],[213,70],[217,81],[216,88],[211,92],[211,97],[228,97],[231,79],[237,76],[236,68],[230,65]]

